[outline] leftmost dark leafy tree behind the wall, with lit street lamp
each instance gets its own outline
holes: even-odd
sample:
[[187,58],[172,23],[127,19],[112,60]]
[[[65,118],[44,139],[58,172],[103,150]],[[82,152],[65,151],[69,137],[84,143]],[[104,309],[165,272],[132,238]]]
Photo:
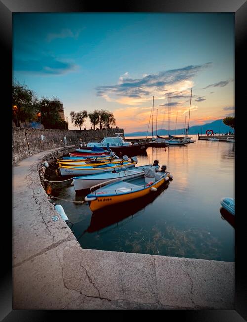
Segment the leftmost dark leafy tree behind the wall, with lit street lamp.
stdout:
[[[39,102],[33,91],[15,81],[12,85],[12,119],[33,121],[39,110]],[[16,118],[17,117],[17,118]],[[18,124],[16,124],[18,125]]]

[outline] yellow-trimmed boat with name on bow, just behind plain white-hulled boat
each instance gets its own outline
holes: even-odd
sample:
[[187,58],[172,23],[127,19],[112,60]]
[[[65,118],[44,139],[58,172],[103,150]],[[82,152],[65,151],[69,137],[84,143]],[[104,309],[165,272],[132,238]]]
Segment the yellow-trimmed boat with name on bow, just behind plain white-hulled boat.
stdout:
[[97,166],[59,166],[61,175],[91,175],[96,173],[112,172],[119,171],[123,168],[134,167],[137,164],[138,160],[136,157],[131,158],[131,161],[123,161],[120,163],[108,163],[105,165]]

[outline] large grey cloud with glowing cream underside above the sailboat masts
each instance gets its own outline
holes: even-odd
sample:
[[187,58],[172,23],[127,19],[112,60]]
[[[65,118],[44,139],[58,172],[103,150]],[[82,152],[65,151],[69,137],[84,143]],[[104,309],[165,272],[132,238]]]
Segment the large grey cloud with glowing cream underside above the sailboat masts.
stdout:
[[206,63],[197,66],[162,71],[157,74],[144,75],[141,78],[130,78],[128,73],[120,76],[118,84],[96,87],[97,96],[107,101],[137,105],[156,99],[165,99],[168,94],[188,97],[188,89],[193,86],[192,78],[200,71],[211,66]]

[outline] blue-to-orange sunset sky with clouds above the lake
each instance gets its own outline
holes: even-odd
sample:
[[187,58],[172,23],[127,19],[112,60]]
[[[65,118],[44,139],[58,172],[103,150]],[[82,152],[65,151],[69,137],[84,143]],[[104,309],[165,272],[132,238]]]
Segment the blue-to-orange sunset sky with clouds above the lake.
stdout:
[[69,129],[95,109],[124,133],[156,116],[168,129],[168,108],[170,129],[189,109],[190,126],[210,123],[234,115],[234,14],[13,13],[13,80],[58,98]]

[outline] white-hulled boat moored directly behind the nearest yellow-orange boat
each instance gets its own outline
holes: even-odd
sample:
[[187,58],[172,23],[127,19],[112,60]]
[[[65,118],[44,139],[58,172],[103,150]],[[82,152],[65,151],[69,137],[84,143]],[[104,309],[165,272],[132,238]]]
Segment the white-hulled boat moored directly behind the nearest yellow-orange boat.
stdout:
[[[142,175],[146,168],[152,168],[152,165],[144,165],[138,166],[135,168],[130,168],[129,170],[121,170],[115,173],[107,172],[107,173],[99,173],[99,174],[92,174],[92,175],[84,175],[80,177],[73,178],[74,188],[75,191],[82,190],[82,189],[89,189],[94,185],[98,184],[109,184],[113,181],[121,181],[124,179],[129,178],[136,178]],[[156,169],[159,168],[155,167]]]

